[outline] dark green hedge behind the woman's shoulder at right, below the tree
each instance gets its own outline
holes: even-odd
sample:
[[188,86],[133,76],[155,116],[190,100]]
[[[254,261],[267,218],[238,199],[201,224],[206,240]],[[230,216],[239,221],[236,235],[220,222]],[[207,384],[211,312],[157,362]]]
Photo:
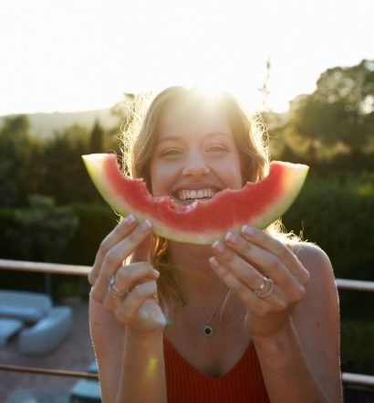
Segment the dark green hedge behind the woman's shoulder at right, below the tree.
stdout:
[[283,221],[327,251],[337,275],[372,279],[374,174],[313,175]]

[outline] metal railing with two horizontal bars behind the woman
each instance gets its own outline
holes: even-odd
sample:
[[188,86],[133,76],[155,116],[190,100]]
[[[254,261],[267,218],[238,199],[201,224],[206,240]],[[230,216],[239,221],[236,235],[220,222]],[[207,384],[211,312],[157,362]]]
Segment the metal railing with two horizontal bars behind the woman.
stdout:
[[[56,263],[40,263],[33,261],[0,259],[0,270],[18,270],[18,271],[30,271],[30,272],[43,272],[51,274],[87,276],[91,268],[89,266],[76,266],[76,265],[66,265]],[[336,283],[339,290],[374,292],[374,281],[336,279]],[[37,368],[31,366],[11,366],[0,364],[0,370],[43,374],[48,376],[72,376],[72,377],[98,379],[97,374],[92,374],[88,372],[57,370],[50,368]],[[346,385],[374,387],[374,376],[369,375],[351,374],[348,372],[343,372],[342,381],[343,384]]]

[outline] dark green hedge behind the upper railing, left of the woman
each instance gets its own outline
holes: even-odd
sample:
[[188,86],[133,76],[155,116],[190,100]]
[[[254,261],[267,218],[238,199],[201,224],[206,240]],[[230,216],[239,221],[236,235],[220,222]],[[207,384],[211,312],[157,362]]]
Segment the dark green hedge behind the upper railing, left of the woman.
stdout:
[[[92,265],[102,239],[117,224],[108,206],[56,207],[47,197],[31,197],[30,207],[0,208],[0,257]],[[0,270],[5,288],[46,292],[40,273]],[[54,297],[88,295],[85,277],[52,276]]]

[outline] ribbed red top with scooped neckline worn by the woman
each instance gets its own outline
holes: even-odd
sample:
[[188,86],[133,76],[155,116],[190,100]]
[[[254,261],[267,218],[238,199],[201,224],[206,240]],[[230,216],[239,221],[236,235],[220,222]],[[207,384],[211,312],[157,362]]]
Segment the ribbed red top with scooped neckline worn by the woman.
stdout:
[[168,403],[270,403],[255,346],[225,375],[205,376],[164,339]]

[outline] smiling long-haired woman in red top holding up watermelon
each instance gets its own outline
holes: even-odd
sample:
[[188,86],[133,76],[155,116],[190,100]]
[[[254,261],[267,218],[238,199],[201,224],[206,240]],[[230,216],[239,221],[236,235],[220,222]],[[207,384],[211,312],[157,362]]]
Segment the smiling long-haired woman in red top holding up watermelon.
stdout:
[[[228,94],[164,90],[131,130],[130,174],[180,205],[266,174],[262,133]],[[201,246],[126,217],[89,281],[105,403],[341,401],[330,262],[274,226]]]

